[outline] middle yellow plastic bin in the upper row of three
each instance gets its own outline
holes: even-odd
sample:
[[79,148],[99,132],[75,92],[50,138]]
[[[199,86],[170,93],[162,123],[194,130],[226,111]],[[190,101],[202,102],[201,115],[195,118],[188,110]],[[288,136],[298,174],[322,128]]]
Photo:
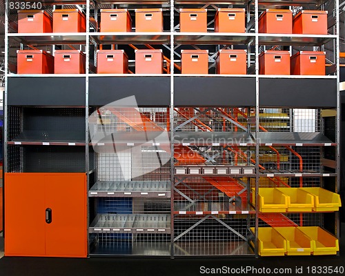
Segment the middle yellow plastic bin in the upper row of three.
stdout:
[[277,188],[288,196],[288,212],[311,212],[314,207],[314,197],[300,188]]

